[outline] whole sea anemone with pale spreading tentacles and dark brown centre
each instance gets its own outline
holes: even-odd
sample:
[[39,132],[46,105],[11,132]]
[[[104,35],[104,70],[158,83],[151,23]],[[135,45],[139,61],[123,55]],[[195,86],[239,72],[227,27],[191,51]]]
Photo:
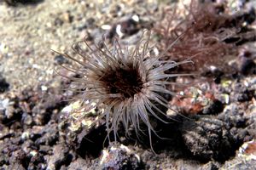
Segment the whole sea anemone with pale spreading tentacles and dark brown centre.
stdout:
[[[67,71],[79,74],[79,77],[67,77],[63,74],[61,76],[67,77],[79,85],[72,89],[78,92],[81,100],[79,111],[84,111],[84,108],[88,109],[92,103],[103,108],[102,116],[106,120],[108,139],[109,134],[113,132],[114,140],[117,140],[120,123],[125,127],[126,134],[131,126],[138,134],[142,132],[140,124],[143,122],[148,128],[148,137],[152,148],[151,136],[152,132],[156,132],[150,122],[150,117],[155,117],[161,122],[168,122],[161,116],[167,117],[165,111],[156,105],[172,109],[168,99],[163,95],[177,95],[167,88],[170,85],[177,85],[170,79],[191,75],[168,74],[166,71],[177,65],[189,63],[191,60],[186,59],[181,62],[160,60],[175,42],[164,52],[152,55],[154,47],[149,47],[149,41],[150,31],[143,31],[143,36],[133,48],[121,46],[117,39],[113,40],[112,47],[107,45],[104,38],[101,42],[93,45],[89,45],[84,39],[83,42],[73,45],[73,50],[79,54],[79,58],[72,57],[67,53],[62,54],[80,66],[77,69],[72,65],[61,66]],[[82,43],[90,52],[85,52],[81,48]],[[61,74],[60,71],[57,72]]]

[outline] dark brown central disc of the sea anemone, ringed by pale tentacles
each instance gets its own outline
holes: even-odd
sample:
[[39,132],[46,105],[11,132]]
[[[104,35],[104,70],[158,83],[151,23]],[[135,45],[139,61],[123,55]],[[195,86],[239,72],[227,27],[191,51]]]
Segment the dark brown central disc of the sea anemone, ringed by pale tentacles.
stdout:
[[108,71],[101,80],[110,94],[122,94],[125,98],[133,97],[143,88],[142,78],[132,66]]

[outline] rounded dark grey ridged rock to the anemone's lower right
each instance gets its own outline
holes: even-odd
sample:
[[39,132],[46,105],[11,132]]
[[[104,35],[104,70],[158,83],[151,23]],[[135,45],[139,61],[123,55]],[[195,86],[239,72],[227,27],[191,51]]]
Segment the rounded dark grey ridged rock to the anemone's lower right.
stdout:
[[183,139],[201,161],[225,161],[234,156],[236,144],[225,123],[213,117],[197,117],[183,122]]

